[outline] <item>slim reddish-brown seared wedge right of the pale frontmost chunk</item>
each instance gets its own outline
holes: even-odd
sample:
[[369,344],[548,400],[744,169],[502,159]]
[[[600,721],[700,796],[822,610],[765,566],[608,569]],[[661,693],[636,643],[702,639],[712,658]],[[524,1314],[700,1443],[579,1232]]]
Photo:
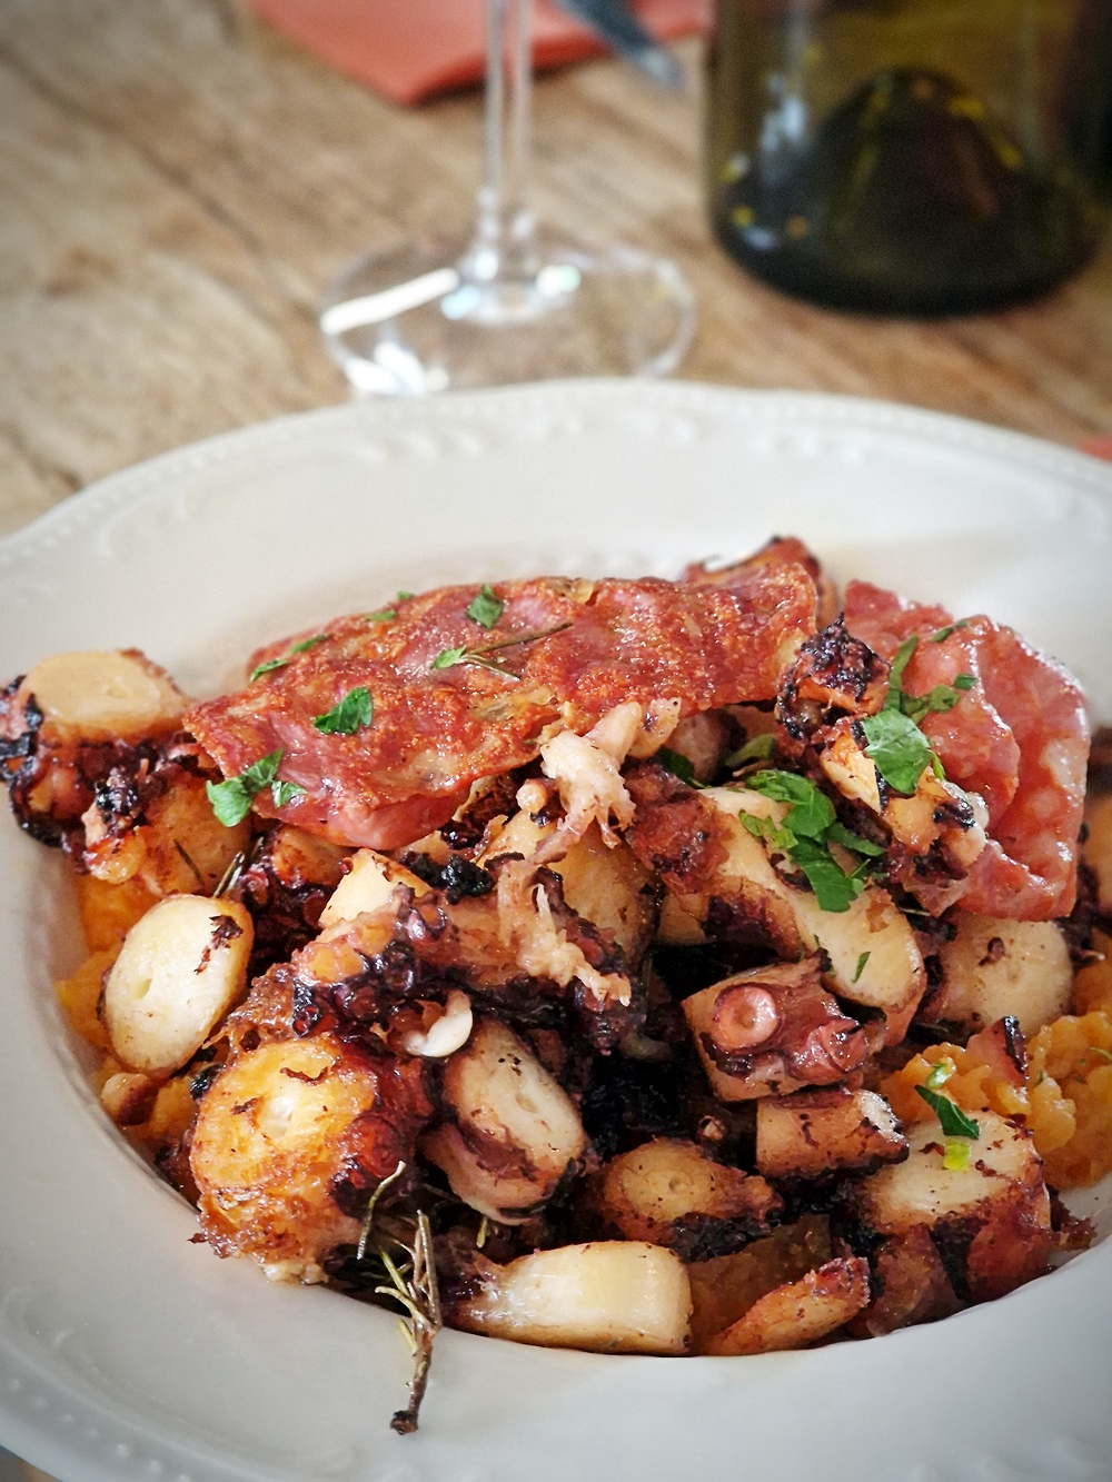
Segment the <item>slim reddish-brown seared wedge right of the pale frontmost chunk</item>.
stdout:
[[731,1328],[710,1338],[706,1352],[727,1356],[805,1349],[829,1338],[867,1304],[869,1263],[838,1257],[758,1298]]

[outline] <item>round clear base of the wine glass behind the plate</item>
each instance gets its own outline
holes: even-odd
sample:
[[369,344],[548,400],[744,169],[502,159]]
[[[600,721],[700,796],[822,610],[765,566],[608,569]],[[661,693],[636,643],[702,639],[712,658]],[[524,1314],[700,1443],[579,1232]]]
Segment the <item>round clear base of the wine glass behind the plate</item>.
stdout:
[[366,396],[421,396],[559,376],[666,375],[695,328],[672,262],[624,246],[529,243],[482,276],[467,237],[360,258],[320,314],[329,353]]

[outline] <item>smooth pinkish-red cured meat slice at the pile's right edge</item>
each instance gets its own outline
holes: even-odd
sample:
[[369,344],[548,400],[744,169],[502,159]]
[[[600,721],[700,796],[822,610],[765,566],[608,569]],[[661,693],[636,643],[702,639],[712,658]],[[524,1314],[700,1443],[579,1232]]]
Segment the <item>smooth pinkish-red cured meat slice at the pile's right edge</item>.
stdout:
[[1076,680],[1008,627],[984,617],[953,622],[944,608],[867,582],[848,584],[845,624],[888,659],[912,634],[922,640],[903,673],[912,695],[959,674],[977,679],[952,710],[921,722],[946,777],[989,812],[962,907],[1029,920],[1069,914],[1090,741]]

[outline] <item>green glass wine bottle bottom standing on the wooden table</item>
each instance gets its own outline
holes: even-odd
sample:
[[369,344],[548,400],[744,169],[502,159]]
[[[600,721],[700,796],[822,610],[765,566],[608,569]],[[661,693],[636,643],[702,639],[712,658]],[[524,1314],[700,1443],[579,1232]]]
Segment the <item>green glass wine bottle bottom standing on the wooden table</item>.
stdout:
[[1075,148],[1108,0],[716,0],[709,209],[756,277],[949,314],[1045,292],[1100,216]]

